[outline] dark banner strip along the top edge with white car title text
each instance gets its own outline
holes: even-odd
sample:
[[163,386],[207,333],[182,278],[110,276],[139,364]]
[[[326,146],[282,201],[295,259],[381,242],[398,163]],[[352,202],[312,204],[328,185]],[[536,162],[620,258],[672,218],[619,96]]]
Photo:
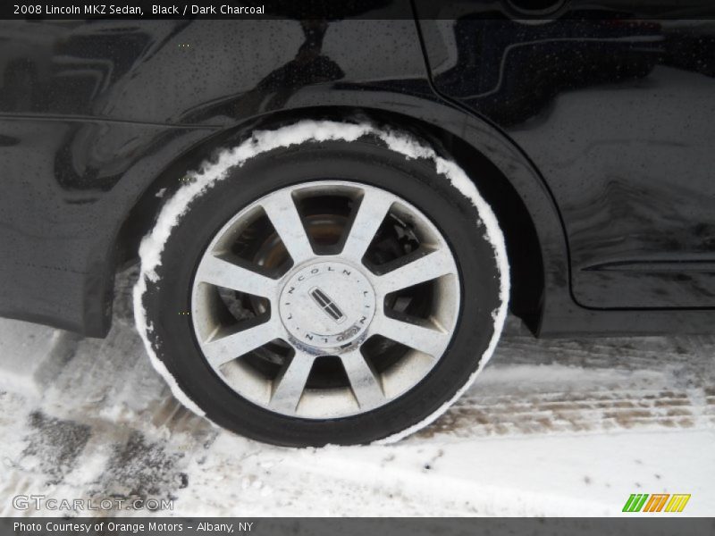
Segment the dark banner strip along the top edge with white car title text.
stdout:
[[4,0],[4,20],[106,19],[715,20],[712,0]]

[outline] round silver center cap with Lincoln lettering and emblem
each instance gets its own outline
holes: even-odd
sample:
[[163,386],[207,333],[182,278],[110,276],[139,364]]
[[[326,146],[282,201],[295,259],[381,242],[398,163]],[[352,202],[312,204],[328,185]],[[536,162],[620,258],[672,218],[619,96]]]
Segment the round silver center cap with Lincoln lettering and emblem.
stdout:
[[295,272],[281,292],[281,320],[300,343],[337,348],[357,339],[374,315],[374,290],[349,264],[308,264]]

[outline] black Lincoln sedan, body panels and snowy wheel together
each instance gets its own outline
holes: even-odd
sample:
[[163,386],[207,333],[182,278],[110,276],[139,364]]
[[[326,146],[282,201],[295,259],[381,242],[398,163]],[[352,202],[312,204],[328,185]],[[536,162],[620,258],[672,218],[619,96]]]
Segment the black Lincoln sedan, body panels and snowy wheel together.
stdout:
[[0,314],[103,337],[139,263],[174,394],[290,446],[431,423],[508,310],[712,332],[715,23],[530,4],[1,21]]

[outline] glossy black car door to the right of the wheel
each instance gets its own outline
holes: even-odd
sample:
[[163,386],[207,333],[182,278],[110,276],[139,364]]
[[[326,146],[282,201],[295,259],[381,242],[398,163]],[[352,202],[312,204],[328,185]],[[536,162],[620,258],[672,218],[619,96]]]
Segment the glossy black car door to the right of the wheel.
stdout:
[[576,302],[715,306],[715,7],[515,4],[416,10],[436,90],[543,174]]

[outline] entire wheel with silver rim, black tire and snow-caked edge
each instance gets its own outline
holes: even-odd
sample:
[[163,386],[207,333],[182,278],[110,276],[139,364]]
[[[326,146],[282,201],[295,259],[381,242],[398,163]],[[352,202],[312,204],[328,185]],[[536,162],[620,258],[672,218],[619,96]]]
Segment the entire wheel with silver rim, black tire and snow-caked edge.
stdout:
[[134,305],[156,369],[197,413],[281,445],[398,440],[492,355],[501,230],[432,148],[301,121],[190,176],[142,242]]

